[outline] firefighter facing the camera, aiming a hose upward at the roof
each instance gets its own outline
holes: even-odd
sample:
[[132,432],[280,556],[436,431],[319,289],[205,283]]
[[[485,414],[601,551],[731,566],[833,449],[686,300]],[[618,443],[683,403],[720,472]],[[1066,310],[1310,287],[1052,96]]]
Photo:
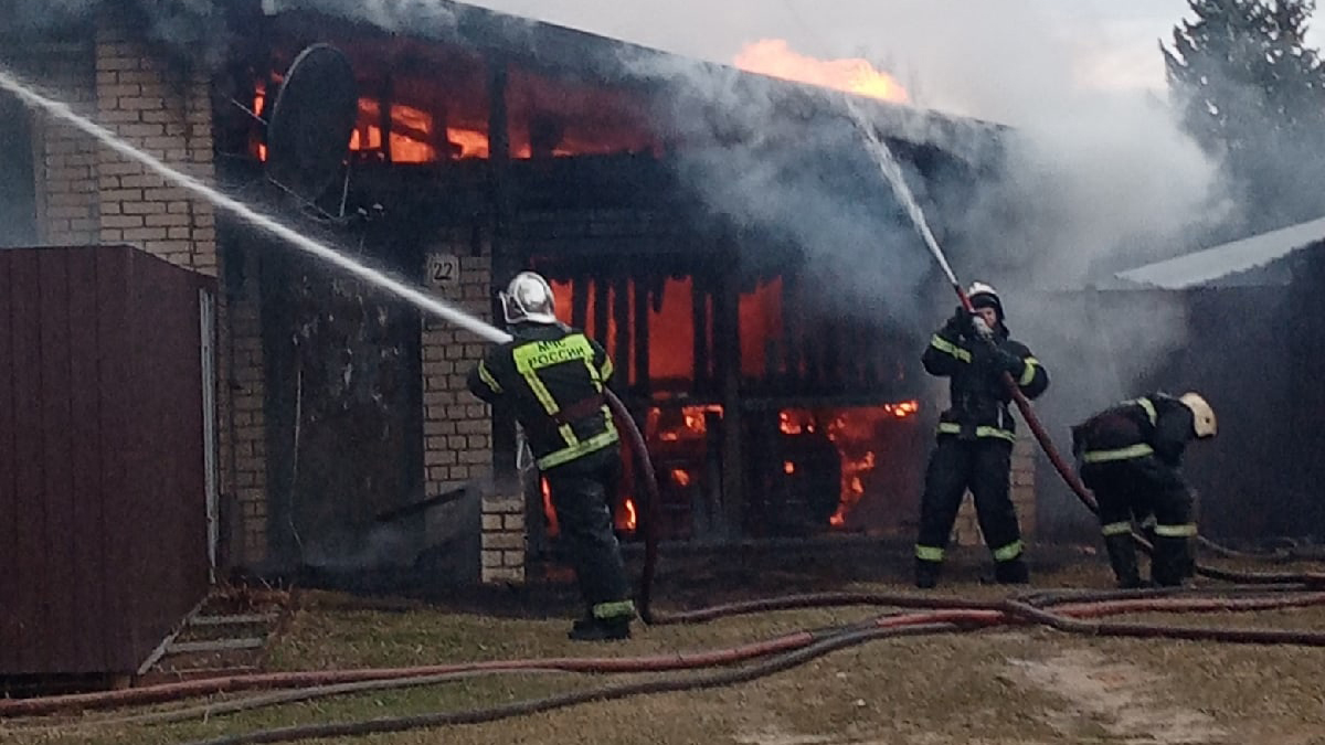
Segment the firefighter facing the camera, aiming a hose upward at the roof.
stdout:
[[1016,430],[1003,374],[1010,374],[1031,399],[1044,392],[1049,375],[1026,345],[1008,337],[1003,302],[994,288],[975,282],[967,297],[975,314],[958,308],[921,357],[930,375],[950,378],[951,395],[951,407],[939,416],[938,443],[921,497],[916,586],[922,589],[938,582],[966,489],[975,497],[980,532],[994,554],[995,579],[1030,581],[1022,529],[1008,494]]

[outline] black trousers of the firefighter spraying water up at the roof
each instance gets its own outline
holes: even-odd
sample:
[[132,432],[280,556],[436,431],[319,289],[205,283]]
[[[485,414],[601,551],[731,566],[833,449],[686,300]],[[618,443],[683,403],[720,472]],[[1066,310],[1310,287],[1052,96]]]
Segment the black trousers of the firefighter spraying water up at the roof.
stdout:
[[938,437],[929,457],[925,493],[920,502],[920,536],[916,540],[920,561],[942,561],[966,489],[975,497],[980,532],[996,562],[1003,565],[1022,557],[1022,526],[1008,493],[1011,461],[1012,443],[999,437]]

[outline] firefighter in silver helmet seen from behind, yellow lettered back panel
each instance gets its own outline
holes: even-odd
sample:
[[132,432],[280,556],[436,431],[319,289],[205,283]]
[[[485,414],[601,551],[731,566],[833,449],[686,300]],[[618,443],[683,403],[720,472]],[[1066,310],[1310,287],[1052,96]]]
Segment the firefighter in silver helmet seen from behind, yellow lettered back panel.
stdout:
[[469,372],[469,390],[509,400],[547,479],[575,581],[587,606],[568,636],[625,639],[635,603],[610,504],[620,479],[619,436],[603,388],[612,361],[603,347],[558,322],[553,290],[521,272],[500,293],[511,341],[493,347]]

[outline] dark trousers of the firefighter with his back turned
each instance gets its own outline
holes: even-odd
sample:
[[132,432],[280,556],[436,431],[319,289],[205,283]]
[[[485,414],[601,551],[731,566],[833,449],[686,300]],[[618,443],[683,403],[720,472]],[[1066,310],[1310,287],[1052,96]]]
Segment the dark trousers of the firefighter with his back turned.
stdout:
[[611,502],[621,475],[616,448],[607,448],[543,473],[575,581],[596,618],[633,615],[621,546],[612,530]]

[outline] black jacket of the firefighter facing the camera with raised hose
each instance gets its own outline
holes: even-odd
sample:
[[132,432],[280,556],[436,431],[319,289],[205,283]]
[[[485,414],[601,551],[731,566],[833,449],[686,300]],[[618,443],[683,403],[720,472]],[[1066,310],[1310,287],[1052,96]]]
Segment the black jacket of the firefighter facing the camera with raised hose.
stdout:
[[961,439],[1016,440],[1016,424],[1007,404],[1012,394],[1003,372],[1028,399],[1049,387],[1049,374],[1022,342],[999,323],[992,339],[983,339],[957,319],[934,333],[921,362],[930,375],[950,378],[951,407],[939,416],[938,433]]

